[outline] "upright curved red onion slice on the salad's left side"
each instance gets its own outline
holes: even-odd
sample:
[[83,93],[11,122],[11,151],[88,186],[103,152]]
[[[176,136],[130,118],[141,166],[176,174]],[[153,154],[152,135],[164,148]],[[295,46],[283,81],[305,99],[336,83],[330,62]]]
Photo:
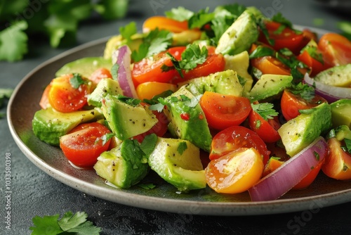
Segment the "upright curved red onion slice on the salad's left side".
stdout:
[[112,61],[119,65],[117,80],[124,96],[138,99],[131,78],[131,49],[126,45],[119,47],[112,53]]

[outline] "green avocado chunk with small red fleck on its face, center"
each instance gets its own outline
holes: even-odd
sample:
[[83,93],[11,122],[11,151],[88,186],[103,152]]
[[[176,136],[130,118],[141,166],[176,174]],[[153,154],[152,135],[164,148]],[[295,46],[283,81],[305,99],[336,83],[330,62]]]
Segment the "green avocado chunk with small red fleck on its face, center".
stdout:
[[185,86],[164,99],[164,113],[169,120],[170,132],[195,146],[210,151],[212,136],[199,97],[194,96]]

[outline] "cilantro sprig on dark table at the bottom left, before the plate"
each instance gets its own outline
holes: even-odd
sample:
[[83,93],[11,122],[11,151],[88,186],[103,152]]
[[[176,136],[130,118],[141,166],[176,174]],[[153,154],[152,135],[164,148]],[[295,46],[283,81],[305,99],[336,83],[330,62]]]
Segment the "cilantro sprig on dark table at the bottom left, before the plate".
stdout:
[[93,222],[88,221],[86,212],[77,212],[73,214],[71,211],[59,219],[60,215],[46,215],[44,217],[35,216],[32,221],[34,226],[29,227],[32,235],[48,234],[81,234],[81,235],[98,235],[101,228],[96,227]]

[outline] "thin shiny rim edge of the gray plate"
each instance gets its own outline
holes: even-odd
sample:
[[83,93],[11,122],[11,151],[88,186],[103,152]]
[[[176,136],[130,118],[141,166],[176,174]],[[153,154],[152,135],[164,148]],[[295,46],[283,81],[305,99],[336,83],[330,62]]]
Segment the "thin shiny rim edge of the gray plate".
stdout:
[[[326,30],[306,27],[301,25],[294,25],[297,29],[309,28],[314,30],[314,32],[325,33]],[[26,144],[20,139],[20,136],[15,131],[15,127],[12,122],[12,108],[15,97],[18,96],[18,91],[21,89],[22,85],[25,84],[27,80],[32,77],[36,72],[45,68],[47,65],[57,61],[60,58],[65,58],[72,53],[77,53],[84,49],[88,49],[91,46],[98,46],[99,44],[107,42],[109,37],[103,37],[101,39],[96,39],[79,46],[75,46],[72,49],[59,53],[53,58],[44,61],[43,63],[37,65],[36,68],[31,70],[18,85],[13,90],[13,95],[8,101],[7,107],[7,121],[8,127],[10,129],[11,135],[15,143],[18,145],[22,153],[34,163],[39,169],[46,172],[54,179],[77,189],[81,192],[87,193],[91,196],[97,198],[102,198],[107,201],[112,201],[114,203],[120,203],[124,205],[129,205],[137,208],[144,208],[148,210],[159,210],[163,212],[176,212],[180,214],[192,214],[192,215],[217,215],[217,216],[227,216],[227,215],[270,215],[279,214],[284,212],[297,212],[301,210],[309,210],[311,203],[316,201],[322,201],[322,207],[337,205],[341,203],[347,203],[351,201],[351,189],[345,189],[342,191],[337,191],[333,193],[324,193],[316,196],[305,196],[299,198],[287,198],[279,199],[275,201],[264,201],[264,202],[213,202],[213,201],[190,201],[181,200],[173,198],[159,198],[146,195],[140,195],[135,193],[128,193],[126,191],[119,191],[115,189],[100,187],[96,184],[86,182],[83,179],[79,179],[65,172],[55,169],[51,165],[48,165],[44,160],[37,156],[31,149],[29,149]],[[101,192],[102,195],[100,194]],[[168,205],[166,209],[162,206],[164,203]],[[284,205],[284,206],[282,206]],[[269,208],[269,210],[265,209]]]

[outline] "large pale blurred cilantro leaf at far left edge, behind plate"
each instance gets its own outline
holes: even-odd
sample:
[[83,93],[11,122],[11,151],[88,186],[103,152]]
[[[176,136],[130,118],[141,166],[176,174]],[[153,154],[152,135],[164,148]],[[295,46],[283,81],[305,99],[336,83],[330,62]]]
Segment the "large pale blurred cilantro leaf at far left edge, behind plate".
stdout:
[[22,60],[28,52],[28,37],[24,32],[27,27],[27,22],[19,21],[0,32],[0,61]]

